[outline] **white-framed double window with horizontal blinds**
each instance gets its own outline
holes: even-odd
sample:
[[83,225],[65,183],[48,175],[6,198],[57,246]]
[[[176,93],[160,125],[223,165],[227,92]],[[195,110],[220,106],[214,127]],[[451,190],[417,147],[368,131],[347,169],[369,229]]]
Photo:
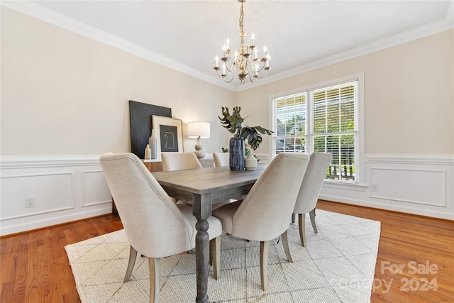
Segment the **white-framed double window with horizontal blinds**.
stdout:
[[272,98],[273,153],[331,153],[326,180],[358,183],[358,85],[358,78],[345,79]]

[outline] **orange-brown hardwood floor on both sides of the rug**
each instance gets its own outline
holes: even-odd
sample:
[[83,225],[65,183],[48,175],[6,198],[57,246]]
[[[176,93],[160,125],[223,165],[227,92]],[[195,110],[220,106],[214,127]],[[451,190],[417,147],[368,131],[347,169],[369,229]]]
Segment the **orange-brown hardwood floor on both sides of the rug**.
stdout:
[[[454,302],[454,221],[326,201],[317,208],[381,221],[371,302]],[[109,214],[0,238],[0,302],[80,302],[64,247],[121,228]]]

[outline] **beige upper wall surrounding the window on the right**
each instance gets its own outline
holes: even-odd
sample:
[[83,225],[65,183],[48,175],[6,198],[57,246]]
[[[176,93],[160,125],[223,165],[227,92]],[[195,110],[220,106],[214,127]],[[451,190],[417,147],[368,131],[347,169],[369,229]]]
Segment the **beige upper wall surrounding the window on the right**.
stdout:
[[255,111],[250,125],[270,126],[270,95],[364,72],[365,153],[452,155],[453,35],[445,31],[248,89],[237,104]]

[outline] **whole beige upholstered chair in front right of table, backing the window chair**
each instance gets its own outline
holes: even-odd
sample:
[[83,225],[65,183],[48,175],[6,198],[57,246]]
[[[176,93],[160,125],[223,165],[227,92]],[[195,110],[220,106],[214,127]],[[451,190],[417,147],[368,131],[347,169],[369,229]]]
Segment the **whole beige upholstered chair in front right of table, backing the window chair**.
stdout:
[[279,153],[262,172],[243,201],[214,209],[223,231],[234,237],[260,241],[260,281],[268,288],[268,251],[270,241],[282,236],[289,262],[293,262],[287,239],[301,182],[309,163],[306,153]]

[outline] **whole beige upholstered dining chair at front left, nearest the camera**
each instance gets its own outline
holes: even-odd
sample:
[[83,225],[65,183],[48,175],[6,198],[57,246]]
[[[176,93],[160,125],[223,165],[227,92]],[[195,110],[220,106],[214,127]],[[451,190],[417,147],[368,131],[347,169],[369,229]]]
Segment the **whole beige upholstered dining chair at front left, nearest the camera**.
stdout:
[[[175,204],[143,162],[132,153],[106,153],[101,155],[100,162],[131,245],[123,282],[131,277],[139,252],[148,258],[150,302],[158,302],[160,258],[195,247],[196,218],[192,215],[192,207]],[[216,252],[211,256],[214,277],[218,279],[221,221],[210,216],[208,222],[211,251]]]

